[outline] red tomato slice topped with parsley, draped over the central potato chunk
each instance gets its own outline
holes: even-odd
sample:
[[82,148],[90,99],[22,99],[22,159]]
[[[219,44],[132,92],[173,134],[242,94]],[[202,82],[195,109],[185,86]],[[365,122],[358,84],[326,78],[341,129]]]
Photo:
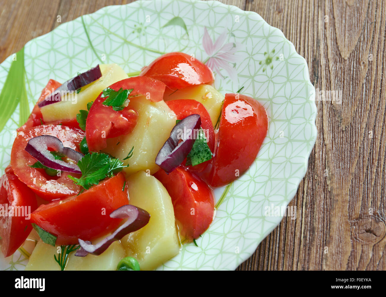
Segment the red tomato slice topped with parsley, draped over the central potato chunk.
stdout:
[[[165,91],[163,82],[151,79],[150,77],[130,77],[116,82],[110,89],[119,91],[122,89],[134,89],[130,96],[145,95],[153,102],[163,100]],[[94,101],[88,112],[86,120],[86,141],[90,151],[100,151],[106,148],[107,138],[113,138],[130,133],[137,124],[138,113],[132,109],[125,108],[122,111],[115,111],[111,106],[103,105],[107,97],[100,96]],[[135,100],[135,97],[129,100]]]

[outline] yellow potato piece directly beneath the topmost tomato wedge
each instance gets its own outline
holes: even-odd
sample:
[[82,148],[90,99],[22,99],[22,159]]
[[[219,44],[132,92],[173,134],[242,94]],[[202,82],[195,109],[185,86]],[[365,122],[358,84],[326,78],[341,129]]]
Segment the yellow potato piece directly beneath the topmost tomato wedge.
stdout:
[[216,124],[218,116],[221,111],[221,104],[224,101],[224,96],[220,94],[214,87],[206,84],[198,86],[190,86],[177,90],[172,94],[165,94],[164,100],[176,100],[176,99],[193,99],[205,106],[212,119],[213,126]]

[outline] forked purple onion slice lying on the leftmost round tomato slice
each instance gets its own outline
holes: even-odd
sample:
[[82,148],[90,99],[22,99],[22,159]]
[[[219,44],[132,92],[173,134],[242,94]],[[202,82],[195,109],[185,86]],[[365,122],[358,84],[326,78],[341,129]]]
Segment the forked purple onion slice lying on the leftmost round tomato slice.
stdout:
[[52,148],[76,162],[83,158],[83,154],[78,153],[72,148],[65,148],[59,138],[51,135],[41,135],[31,138],[27,146],[25,146],[25,151],[49,168],[70,173],[81,173],[78,165],[66,163],[60,159],[56,160],[48,148]]

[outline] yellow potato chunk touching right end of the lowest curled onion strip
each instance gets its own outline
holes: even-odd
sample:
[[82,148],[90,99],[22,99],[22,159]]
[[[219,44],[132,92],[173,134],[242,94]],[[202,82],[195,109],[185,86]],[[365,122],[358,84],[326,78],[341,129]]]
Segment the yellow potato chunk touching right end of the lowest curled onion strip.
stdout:
[[144,171],[127,178],[130,204],[150,213],[142,229],[122,238],[127,256],[138,260],[141,270],[152,270],[179,253],[174,210],[168,191]]

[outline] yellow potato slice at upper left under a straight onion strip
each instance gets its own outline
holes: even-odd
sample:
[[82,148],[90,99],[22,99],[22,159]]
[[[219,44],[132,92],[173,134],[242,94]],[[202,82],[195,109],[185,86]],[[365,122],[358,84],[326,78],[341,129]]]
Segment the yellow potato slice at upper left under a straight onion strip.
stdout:
[[71,120],[76,117],[81,109],[87,110],[87,103],[97,99],[103,89],[112,85],[114,82],[128,78],[125,71],[117,64],[100,64],[102,77],[95,82],[91,82],[84,87],[81,87],[76,99],[69,96],[63,96],[62,101],[43,106],[41,112],[45,122],[58,120]]

